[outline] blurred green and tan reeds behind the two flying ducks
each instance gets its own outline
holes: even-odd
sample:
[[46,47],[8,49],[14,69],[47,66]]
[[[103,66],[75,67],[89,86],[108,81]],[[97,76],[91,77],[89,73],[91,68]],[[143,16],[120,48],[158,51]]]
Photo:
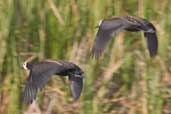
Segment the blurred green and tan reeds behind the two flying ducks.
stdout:
[[[99,60],[89,57],[98,22],[123,15],[155,25],[156,58],[141,32],[121,32]],[[0,114],[171,114],[171,0],[1,0],[0,51]],[[79,101],[54,76],[36,104],[23,105],[20,66],[31,56],[78,64],[86,75]]]

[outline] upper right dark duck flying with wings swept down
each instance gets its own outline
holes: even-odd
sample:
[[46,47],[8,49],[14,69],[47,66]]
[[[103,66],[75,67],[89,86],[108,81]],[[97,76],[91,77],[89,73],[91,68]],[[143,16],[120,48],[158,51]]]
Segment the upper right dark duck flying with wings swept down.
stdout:
[[115,36],[117,32],[122,30],[130,32],[143,31],[150,56],[154,57],[157,54],[158,40],[156,29],[154,25],[146,19],[132,16],[115,17],[101,20],[97,27],[99,29],[92,49],[92,56],[95,58],[98,58],[102,54],[107,42]]

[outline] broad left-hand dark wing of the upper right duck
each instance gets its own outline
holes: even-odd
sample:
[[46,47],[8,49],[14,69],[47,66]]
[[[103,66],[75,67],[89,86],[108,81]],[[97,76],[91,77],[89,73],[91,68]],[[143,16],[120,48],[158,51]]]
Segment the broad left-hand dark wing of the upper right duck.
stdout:
[[120,18],[106,19],[101,22],[99,25],[98,32],[96,34],[96,38],[94,40],[93,48],[92,48],[92,56],[98,58],[103,52],[107,42],[112,39],[112,37],[123,30],[125,25],[123,24],[123,20]]

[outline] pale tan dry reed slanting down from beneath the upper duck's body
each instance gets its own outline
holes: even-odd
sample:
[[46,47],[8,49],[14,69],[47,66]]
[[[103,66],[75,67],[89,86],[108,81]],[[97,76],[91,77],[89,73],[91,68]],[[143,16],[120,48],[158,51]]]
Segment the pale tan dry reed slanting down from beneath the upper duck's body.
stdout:
[[99,91],[97,92],[98,97],[102,98],[105,95],[106,93],[105,84],[107,84],[111,80],[113,76],[112,74],[116,72],[123,64],[123,60],[122,60],[123,37],[124,37],[124,34],[121,33],[119,34],[118,38],[116,38],[115,40],[115,43],[112,48],[111,56],[110,56],[111,62],[109,63],[109,66],[107,67],[107,69],[103,72],[103,75],[102,75],[103,82],[101,84],[101,87],[99,88]]

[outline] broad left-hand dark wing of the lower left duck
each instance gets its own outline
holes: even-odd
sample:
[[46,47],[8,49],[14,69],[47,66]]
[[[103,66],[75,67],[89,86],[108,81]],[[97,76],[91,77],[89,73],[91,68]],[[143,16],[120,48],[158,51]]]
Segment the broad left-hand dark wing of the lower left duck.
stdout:
[[61,64],[52,62],[41,62],[33,66],[23,93],[25,103],[32,103],[36,98],[37,91],[41,89],[56,72],[60,72],[64,67]]

